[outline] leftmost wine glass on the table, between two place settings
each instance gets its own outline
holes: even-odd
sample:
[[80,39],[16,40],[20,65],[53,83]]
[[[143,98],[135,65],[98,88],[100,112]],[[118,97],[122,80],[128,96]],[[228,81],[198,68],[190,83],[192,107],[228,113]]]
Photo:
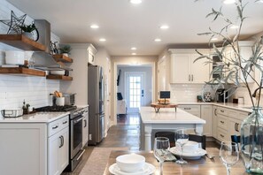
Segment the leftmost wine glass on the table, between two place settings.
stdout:
[[156,137],[154,140],[154,156],[159,160],[159,174],[163,174],[163,163],[166,160],[168,149],[170,148],[170,141],[166,137]]

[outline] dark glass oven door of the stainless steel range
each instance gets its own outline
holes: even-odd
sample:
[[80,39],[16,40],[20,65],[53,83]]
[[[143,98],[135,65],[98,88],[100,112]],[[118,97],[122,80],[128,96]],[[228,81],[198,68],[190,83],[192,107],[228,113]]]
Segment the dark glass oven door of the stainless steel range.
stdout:
[[79,115],[71,120],[71,159],[77,155],[82,147],[82,123],[84,116]]

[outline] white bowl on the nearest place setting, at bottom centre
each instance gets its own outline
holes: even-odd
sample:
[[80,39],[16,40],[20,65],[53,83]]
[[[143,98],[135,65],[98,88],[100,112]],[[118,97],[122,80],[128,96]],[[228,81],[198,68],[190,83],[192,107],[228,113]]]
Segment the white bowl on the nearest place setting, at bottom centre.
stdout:
[[135,172],[143,169],[145,157],[136,154],[117,156],[116,163],[121,171]]

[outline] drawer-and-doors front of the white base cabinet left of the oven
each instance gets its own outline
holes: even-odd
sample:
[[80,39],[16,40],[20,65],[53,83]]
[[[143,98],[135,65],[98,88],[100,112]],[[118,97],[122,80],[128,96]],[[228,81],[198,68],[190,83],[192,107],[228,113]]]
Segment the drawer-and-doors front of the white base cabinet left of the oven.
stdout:
[[58,175],[65,170],[69,160],[68,117],[51,122],[48,133],[48,174]]

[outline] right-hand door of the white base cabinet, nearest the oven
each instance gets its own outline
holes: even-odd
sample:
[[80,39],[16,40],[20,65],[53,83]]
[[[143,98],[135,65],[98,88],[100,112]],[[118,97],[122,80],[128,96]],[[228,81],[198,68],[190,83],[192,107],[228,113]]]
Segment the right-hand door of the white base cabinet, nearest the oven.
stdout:
[[[62,138],[62,145],[58,147],[58,170],[59,174],[64,171],[66,166],[68,165],[69,160],[69,128],[66,127],[62,131],[59,132],[59,137]],[[58,137],[58,139],[59,139]]]

